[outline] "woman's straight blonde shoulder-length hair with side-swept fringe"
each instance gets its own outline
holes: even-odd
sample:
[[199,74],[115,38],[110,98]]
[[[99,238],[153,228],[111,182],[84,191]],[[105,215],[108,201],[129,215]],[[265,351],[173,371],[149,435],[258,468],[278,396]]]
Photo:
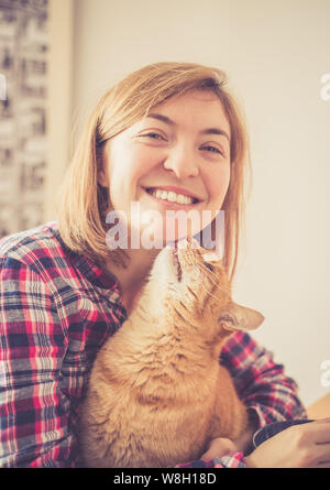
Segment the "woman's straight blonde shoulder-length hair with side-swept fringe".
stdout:
[[98,183],[102,145],[166,99],[188,90],[209,90],[222,102],[231,129],[231,178],[222,209],[226,210],[223,261],[233,276],[250,151],[242,110],[227,85],[226,74],[217,68],[193,63],[155,63],[131,73],[99,100],[82,132],[57,202],[59,232],[70,250],[100,264],[111,253],[116,263],[128,265],[123,250],[110,252],[106,244],[106,215],[113,208],[108,189]]

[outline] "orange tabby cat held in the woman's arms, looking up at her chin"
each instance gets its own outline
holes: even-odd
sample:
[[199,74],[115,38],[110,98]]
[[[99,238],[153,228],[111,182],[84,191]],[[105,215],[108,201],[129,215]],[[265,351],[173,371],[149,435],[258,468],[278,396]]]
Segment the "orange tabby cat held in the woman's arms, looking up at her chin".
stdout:
[[96,358],[81,407],[88,467],[175,466],[246,427],[219,355],[229,335],[263,316],[231,301],[221,261],[185,244],[160,252],[131,316]]

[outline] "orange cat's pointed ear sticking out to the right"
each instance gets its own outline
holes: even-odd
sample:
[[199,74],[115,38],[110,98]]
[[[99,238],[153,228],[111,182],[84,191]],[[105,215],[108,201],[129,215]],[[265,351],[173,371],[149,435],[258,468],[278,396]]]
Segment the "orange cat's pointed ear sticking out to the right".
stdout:
[[264,316],[256,309],[230,302],[218,322],[228,330],[254,330],[264,319]]

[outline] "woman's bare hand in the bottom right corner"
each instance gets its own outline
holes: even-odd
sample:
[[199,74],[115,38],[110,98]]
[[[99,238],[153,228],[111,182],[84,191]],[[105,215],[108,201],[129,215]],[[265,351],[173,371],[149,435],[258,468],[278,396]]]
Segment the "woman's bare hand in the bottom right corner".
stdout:
[[244,459],[248,468],[330,468],[330,418],[293,425]]

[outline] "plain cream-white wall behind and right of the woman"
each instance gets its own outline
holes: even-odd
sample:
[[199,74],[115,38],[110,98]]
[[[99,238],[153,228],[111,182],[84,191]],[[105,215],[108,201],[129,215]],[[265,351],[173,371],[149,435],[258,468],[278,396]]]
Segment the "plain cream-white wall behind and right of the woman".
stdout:
[[248,113],[254,171],[234,297],[266,316],[254,337],[297,380],[302,401],[326,394],[329,0],[75,0],[74,34],[75,121],[145,64],[227,70]]

